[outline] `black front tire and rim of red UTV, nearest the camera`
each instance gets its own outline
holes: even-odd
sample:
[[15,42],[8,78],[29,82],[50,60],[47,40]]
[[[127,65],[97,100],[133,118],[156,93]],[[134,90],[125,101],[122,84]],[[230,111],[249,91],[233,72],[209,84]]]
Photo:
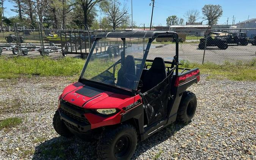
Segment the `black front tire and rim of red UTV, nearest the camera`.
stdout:
[[103,130],[98,144],[99,159],[130,159],[137,146],[137,132],[131,124],[122,124],[115,128]]

